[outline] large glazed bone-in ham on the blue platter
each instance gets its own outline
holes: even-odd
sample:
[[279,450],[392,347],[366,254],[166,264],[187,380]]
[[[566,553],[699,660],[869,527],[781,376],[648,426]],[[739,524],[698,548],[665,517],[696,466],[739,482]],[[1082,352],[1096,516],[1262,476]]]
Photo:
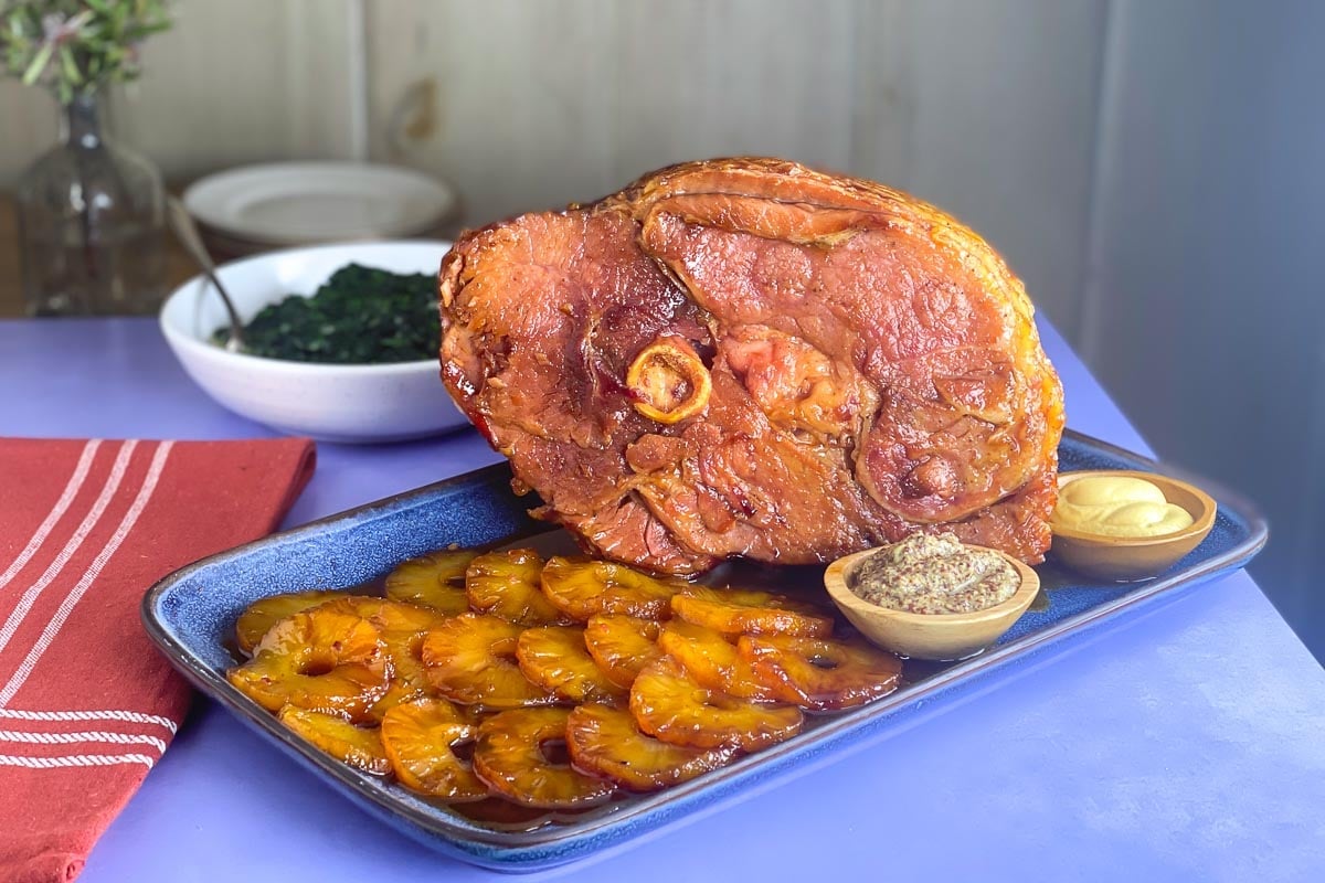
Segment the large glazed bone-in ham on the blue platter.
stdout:
[[872,181],[686,163],[466,233],[443,379],[517,491],[661,573],[953,531],[1049,545],[1063,391],[1022,283]]

